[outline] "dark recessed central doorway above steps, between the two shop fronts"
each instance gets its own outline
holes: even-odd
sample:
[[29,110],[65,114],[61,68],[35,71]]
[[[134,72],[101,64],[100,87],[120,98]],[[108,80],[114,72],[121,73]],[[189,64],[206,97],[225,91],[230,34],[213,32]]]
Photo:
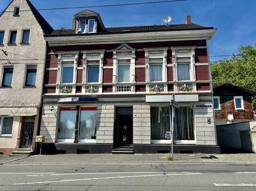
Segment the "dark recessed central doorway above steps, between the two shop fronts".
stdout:
[[114,143],[116,145],[132,144],[132,107],[116,108]]

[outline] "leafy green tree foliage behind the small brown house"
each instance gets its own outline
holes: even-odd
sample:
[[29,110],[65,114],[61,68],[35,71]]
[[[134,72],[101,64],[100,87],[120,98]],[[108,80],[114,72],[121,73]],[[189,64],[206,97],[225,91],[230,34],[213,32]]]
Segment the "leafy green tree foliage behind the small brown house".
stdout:
[[[239,54],[212,64],[213,87],[230,83],[256,92],[256,44],[240,46]],[[256,111],[256,97],[253,98]]]

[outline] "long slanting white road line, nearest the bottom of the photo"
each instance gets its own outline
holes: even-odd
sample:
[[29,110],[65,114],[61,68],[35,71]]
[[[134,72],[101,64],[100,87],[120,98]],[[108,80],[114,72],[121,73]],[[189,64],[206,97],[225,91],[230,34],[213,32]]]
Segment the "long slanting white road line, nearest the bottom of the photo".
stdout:
[[101,178],[83,178],[83,179],[73,179],[73,180],[59,180],[59,181],[46,181],[46,182],[33,182],[33,183],[15,183],[13,185],[22,184],[37,184],[37,183],[61,183],[61,182],[73,182],[73,181],[83,181],[83,180],[100,180],[100,179],[113,179],[113,178],[135,178],[135,177],[146,177],[146,176],[178,176],[178,175],[201,175],[202,173],[191,173],[191,174],[159,174],[159,175],[140,175],[140,176],[113,176],[113,177],[101,177]]

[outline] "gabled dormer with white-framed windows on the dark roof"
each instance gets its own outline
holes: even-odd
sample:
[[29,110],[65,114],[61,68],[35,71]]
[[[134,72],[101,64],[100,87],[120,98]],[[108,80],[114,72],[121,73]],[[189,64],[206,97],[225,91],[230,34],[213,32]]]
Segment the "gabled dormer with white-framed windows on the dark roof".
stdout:
[[99,13],[83,10],[74,15],[72,29],[76,34],[85,34],[105,31],[105,26]]

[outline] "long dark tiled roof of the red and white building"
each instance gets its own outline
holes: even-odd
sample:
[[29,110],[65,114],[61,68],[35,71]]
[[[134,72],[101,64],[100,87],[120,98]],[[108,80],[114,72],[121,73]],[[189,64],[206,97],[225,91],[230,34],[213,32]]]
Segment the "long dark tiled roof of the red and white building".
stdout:
[[129,26],[129,27],[109,27],[105,31],[97,33],[75,34],[75,30],[64,29],[54,30],[49,36],[69,36],[69,35],[93,35],[93,34],[114,34],[114,33],[133,33],[133,32],[150,32],[150,31],[184,31],[184,30],[206,30],[214,29],[195,23],[189,24],[171,24],[171,25],[150,25],[150,26]]

